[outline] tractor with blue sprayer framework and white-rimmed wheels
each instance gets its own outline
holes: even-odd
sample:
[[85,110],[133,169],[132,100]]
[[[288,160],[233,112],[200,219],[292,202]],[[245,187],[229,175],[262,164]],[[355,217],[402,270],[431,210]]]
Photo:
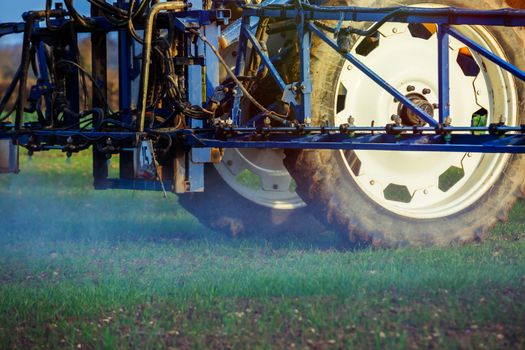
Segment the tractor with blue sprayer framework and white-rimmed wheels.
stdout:
[[374,247],[481,240],[524,195],[525,1],[86,1],[0,24],[2,173],[90,151],[95,189],[215,230]]

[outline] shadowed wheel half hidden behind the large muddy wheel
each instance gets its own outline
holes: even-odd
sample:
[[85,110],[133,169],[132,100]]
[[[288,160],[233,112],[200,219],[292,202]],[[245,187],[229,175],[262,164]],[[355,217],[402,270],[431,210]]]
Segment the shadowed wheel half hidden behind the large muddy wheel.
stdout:
[[[235,64],[236,50],[233,43],[221,52],[231,65]],[[225,79],[224,73],[221,81]],[[252,93],[259,101],[270,103],[273,86],[267,78],[258,82]],[[246,120],[258,113],[245,101],[242,109]],[[226,149],[220,164],[206,165],[204,193],[180,195],[179,203],[202,224],[231,236],[324,232],[295,192],[284,157],[282,150]]]

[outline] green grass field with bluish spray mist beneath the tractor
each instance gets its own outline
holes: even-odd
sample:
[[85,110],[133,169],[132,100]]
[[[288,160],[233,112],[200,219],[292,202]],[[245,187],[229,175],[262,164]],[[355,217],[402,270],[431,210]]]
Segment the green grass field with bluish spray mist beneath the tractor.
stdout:
[[525,348],[523,202],[481,244],[343,251],[223,237],[174,195],[92,191],[89,163],[0,176],[1,349]]

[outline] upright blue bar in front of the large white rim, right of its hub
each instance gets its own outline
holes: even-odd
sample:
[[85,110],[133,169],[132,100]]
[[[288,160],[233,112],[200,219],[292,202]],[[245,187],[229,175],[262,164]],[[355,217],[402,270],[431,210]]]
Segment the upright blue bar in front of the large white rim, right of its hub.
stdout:
[[439,122],[450,117],[450,55],[447,25],[438,26]]

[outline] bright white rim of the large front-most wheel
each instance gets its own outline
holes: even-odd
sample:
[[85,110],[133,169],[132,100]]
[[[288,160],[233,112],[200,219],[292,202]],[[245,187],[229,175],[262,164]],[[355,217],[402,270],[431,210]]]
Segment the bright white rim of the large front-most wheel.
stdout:
[[[495,38],[483,27],[457,29],[505,57]],[[362,40],[356,43],[352,54],[399,91],[408,91],[410,86],[422,94],[423,89],[430,89],[424,96],[437,103],[436,35],[429,39],[415,38],[407,25],[398,23],[384,25],[380,35],[379,45],[368,55],[356,52]],[[504,117],[509,125],[516,125],[517,93],[513,77],[475,53],[472,56],[478,66],[486,70],[482,68],[476,77],[467,76],[456,61],[464,45],[451,39],[450,47],[452,124],[470,126],[472,114],[483,107],[488,111],[488,123]],[[336,125],[346,123],[349,116],[356,125],[370,125],[372,121],[386,125],[391,122],[390,116],[397,113],[399,104],[349,62],[341,71],[338,87],[338,95],[342,97],[336,96],[334,103]],[[337,107],[338,99],[344,100],[342,110]],[[438,110],[434,117],[438,118]],[[369,198],[391,212],[415,219],[446,217],[468,208],[503,175],[510,159],[509,155],[386,151],[341,152],[341,155],[348,172]],[[451,167],[463,169],[464,176],[454,179],[457,181],[448,188],[450,185],[443,179],[451,177],[454,172]],[[404,195],[392,198],[392,190]]]

